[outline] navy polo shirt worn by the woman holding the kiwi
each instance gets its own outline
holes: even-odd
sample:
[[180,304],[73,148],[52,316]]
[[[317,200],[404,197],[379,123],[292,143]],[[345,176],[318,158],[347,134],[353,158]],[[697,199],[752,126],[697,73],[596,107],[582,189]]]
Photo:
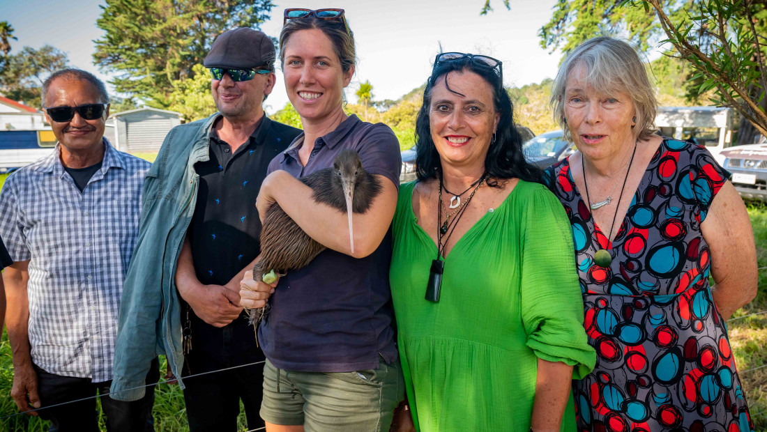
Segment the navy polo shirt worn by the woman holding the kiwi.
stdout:
[[[389,126],[349,116],[314,142],[306,166],[298,159],[301,133],[272,159],[268,172],[282,169],[295,178],[333,165],[354,149],[371,174],[399,186],[400,144]],[[344,372],[397,361],[389,287],[392,237],[389,231],[373,254],[354,258],[325,250],[307,267],[288,272],[269,299],[272,309],[258,329],[269,362],[289,371]]]

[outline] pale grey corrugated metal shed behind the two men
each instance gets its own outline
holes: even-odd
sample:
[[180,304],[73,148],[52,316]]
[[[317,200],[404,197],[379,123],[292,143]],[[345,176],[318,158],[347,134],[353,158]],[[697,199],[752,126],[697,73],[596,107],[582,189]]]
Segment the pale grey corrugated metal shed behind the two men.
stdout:
[[140,108],[111,115],[115,124],[114,146],[123,152],[157,152],[170,129],[181,124],[181,113]]

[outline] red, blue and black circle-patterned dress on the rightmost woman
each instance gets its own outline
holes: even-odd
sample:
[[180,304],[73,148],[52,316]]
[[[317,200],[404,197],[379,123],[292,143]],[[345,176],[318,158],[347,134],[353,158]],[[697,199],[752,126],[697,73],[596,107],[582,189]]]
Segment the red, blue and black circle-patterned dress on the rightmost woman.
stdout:
[[[573,381],[578,430],[753,430],[700,231],[729,172],[703,146],[664,139],[611,243],[567,159],[545,183],[573,230],[594,371]],[[605,249],[609,268],[594,263]]]

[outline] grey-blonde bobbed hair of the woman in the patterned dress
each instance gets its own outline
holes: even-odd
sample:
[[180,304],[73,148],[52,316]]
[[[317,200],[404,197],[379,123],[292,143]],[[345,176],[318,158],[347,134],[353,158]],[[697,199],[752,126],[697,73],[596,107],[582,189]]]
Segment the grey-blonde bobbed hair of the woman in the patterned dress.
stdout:
[[636,126],[632,128],[634,138],[643,140],[653,135],[658,102],[639,54],[624,41],[600,36],[578,45],[565,57],[551,86],[549,104],[555,122],[565,132],[565,139],[572,140],[565,118],[565,93],[568,77],[578,65],[586,67],[586,80],[601,93],[629,95],[637,116]]

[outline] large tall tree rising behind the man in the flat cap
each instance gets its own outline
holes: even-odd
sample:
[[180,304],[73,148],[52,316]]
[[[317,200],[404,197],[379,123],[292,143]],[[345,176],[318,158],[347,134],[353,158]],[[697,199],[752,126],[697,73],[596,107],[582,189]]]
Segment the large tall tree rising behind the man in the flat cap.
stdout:
[[235,27],[258,28],[271,0],[107,0],[96,21],[94,63],[117,93],[167,108],[173,81],[193,77],[216,36]]

